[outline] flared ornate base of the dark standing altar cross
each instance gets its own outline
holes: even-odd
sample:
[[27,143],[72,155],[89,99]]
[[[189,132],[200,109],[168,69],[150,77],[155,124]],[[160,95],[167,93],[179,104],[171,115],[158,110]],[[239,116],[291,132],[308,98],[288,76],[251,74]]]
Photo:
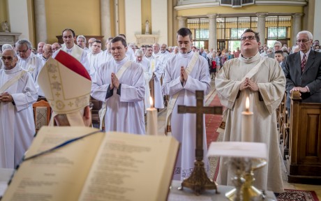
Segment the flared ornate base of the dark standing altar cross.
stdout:
[[195,195],[200,195],[205,190],[216,190],[216,194],[218,193],[217,183],[207,177],[202,161],[195,161],[191,176],[181,182],[179,190],[183,190],[184,187],[191,188]]

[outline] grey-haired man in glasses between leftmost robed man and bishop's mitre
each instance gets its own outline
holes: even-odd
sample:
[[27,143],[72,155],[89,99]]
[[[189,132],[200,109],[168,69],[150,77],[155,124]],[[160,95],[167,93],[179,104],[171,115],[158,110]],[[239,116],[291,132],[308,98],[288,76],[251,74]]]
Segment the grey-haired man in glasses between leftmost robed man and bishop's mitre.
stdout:
[[16,47],[19,54],[18,64],[22,69],[29,71],[33,81],[36,82],[38,72],[43,67],[41,59],[31,52],[32,46],[29,40],[18,40]]

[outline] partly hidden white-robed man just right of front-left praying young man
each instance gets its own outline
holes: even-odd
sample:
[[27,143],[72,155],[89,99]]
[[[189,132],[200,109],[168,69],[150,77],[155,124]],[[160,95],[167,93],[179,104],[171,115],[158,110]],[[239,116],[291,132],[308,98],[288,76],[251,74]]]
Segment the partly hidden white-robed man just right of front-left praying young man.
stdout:
[[151,80],[151,76],[153,72],[150,68],[150,62],[144,57],[144,52],[142,50],[135,51],[136,63],[142,65],[144,69],[144,78],[145,78],[145,98],[144,98],[144,113],[147,113],[147,108],[151,107],[151,103],[149,100],[149,96],[151,96],[149,89],[149,81]]

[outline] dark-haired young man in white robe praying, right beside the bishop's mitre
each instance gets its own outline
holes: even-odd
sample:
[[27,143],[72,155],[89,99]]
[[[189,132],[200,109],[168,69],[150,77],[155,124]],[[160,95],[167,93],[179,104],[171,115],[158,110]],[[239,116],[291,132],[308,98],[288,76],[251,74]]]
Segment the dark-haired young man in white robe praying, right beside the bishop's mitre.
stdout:
[[114,59],[97,69],[91,96],[104,102],[106,131],[144,134],[144,70],[126,57],[127,48],[124,38],[112,39]]

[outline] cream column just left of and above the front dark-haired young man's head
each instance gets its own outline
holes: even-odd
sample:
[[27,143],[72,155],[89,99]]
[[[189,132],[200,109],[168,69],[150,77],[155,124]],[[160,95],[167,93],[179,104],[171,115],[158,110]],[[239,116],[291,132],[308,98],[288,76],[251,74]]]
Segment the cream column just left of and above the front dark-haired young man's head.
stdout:
[[[112,36],[110,22],[110,0],[100,0],[100,34],[104,36],[103,44]],[[103,45],[105,49],[105,45]]]

